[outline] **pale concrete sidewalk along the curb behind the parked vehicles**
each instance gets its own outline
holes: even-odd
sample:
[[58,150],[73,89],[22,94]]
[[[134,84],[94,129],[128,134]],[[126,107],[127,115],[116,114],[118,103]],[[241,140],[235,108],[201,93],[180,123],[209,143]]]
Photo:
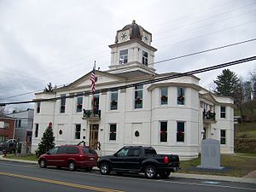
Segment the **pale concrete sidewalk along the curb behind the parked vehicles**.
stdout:
[[[0,154],[0,161],[13,161],[13,162],[22,162],[22,163],[31,163],[38,164],[37,161],[33,160],[13,160],[7,159],[3,157],[3,154]],[[94,170],[99,170],[97,167],[94,167]],[[252,176],[251,176],[252,175]],[[229,182],[240,182],[240,183],[253,183],[256,184],[256,170],[254,172],[250,172],[245,177],[228,177],[228,176],[216,176],[216,175],[199,175],[199,174],[185,174],[185,173],[172,173],[171,177],[178,178],[193,178],[193,179],[209,179],[214,181],[229,181]]]

